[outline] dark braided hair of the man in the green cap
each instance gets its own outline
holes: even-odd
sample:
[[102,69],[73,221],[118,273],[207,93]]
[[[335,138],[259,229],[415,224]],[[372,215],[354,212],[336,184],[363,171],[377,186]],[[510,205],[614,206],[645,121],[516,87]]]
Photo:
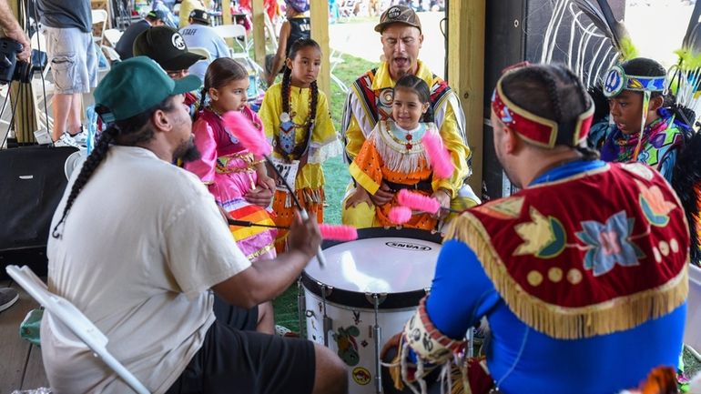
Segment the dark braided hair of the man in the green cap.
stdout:
[[[66,216],[71,210],[71,207],[73,207],[73,204],[76,202],[76,197],[78,197],[78,194],[80,194],[80,192],[86,186],[87,181],[90,180],[90,177],[92,177],[100,163],[102,163],[105,157],[107,157],[107,151],[109,150],[110,144],[117,142],[118,140],[118,145],[135,146],[138,143],[147,142],[153,138],[154,131],[149,126],[151,116],[157,110],[172,110],[175,105],[173,104],[171,98],[172,97],[166,98],[156,106],[141,114],[116,121],[100,134],[95,148],[86,158],[86,162],[83,163],[83,167],[80,168],[80,172],[78,173],[76,181],[73,183],[73,187],[71,187],[70,194],[66,200],[66,206],[64,207],[63,214],[61,215],[61,220],[56,223],[56,226],[51,232],[51,237],[62,237],[58,227],[66,223]],[[96,110],[98,114],[109,112],[109,110],[104,106],[98,106]]]

